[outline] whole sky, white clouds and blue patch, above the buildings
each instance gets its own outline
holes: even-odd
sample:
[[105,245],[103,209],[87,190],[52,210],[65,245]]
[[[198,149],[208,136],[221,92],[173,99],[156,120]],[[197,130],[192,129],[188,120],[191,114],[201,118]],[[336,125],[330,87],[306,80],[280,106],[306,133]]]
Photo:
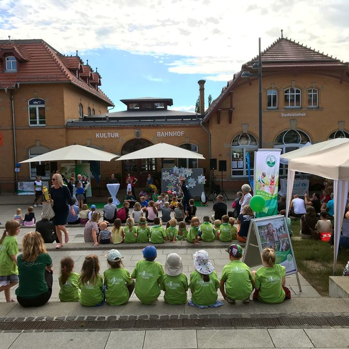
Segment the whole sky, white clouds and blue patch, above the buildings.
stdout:
[[215,99],[241,65],[281,36],[348,62],[348,0],[0,0],[0,38],[43,39],[76,54],[120,99],[173,98],[194,111],[197,81]]

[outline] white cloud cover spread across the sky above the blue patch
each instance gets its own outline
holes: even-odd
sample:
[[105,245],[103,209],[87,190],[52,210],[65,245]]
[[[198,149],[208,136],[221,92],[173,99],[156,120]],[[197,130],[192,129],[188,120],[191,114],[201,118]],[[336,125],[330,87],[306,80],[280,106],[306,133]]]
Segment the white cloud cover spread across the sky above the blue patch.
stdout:
[[347,0],[2,0],[0,37],[42,38],[69,54],[97,48],[151,54],[167,59],[170,72],[219,80],[257,54],[258,36],[264,49],[281,28],[347,61],[348,12]]

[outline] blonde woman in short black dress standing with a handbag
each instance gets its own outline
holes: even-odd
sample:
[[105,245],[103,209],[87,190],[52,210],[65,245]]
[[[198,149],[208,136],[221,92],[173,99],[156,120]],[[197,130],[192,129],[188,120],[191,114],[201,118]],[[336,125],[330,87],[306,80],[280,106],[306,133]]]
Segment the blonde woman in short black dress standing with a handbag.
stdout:
[[53,211],[55,213],[53,224],[56,226],[56,234],[60,241],[56,246],[59,249],[63,246],[62,232],[64,233],[64,242],[67,243],[69,241],[69,235],[64,226],[67,222],[69,206],[72,216],[75,216],[75,211],[70,191],[68,187],[63,185],[62,176],[60,174],[53,174],[52,183],[53,186],[50,189],[50,194],[53,199]]

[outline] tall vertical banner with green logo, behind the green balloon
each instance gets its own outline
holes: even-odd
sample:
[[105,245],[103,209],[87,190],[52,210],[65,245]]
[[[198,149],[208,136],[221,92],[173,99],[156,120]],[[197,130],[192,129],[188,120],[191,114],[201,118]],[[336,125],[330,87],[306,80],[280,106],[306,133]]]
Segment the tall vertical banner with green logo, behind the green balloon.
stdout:
[[277,193],[279,185],[281,149],[259,149],[254,153],[254,195],[261,195],[266,205],[256,218],[278,213]]

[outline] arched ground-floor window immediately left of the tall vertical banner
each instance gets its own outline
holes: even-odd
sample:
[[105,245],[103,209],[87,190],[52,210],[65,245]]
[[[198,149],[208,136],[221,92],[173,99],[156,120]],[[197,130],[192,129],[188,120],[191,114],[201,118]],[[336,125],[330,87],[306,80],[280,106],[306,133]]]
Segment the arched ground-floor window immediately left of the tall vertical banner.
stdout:
[[232,176],[247,176],[247,154],[250,155],[251,175],[254,167],[254,151],[258,149],[257,139],[251,133],[238,134],[231,143],[231,174]]

